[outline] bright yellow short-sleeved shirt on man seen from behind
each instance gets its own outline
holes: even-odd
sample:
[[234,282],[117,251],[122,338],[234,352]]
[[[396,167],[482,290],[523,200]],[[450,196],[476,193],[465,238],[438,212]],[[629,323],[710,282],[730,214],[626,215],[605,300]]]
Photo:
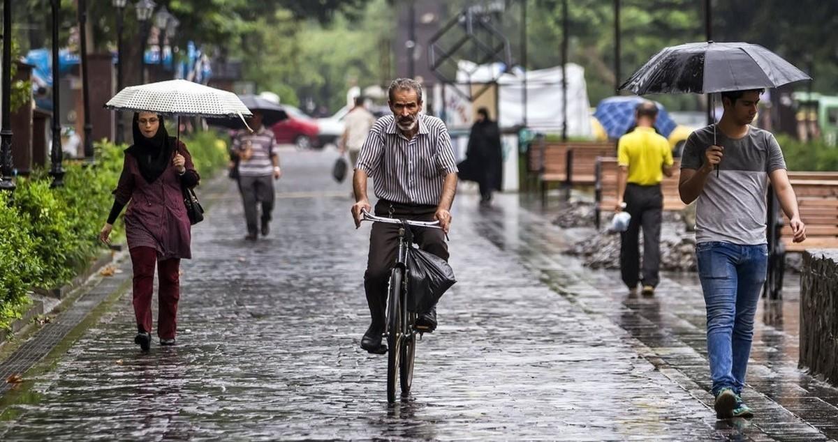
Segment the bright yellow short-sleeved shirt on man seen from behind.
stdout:
[[617,162],[629,167],[626,182],[641,186],[658,184],[664,179],[664,166],[672,166],[672,150],[666,138],[651,127],[637,127],[620,136]]

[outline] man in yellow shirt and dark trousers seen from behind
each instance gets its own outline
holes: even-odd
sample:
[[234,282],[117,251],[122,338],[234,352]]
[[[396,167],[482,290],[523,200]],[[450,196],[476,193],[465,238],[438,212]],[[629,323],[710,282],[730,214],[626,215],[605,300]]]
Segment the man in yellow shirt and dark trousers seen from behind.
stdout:
[[[660,221],[664,196],[660,182],[672,176],[672,151],[666,138],[654,131],[658,106],[645,101],[637,106],[634,131],[620,137],[617,147],[618,173],[617,211],[631,215],[629,229],[621,234],[620,272],[629,292],[643,284],[644,295],[654,295],[660,282]],[[624,204],[623,204],[624,203]],[[638,235],[643,228],[643,270],[639,269]]]

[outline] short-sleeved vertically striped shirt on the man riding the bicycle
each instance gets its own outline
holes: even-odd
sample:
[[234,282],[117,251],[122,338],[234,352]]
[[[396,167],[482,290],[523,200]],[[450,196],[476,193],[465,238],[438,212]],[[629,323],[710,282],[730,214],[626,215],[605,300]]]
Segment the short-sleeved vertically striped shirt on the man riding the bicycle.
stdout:
[[442,182],[457,172],[445,123],[419,114],[419,131],[408,140],[395,116],[382,116],[370,129],[355,168],[373,178],[375,196],[393,203],[438,205]]

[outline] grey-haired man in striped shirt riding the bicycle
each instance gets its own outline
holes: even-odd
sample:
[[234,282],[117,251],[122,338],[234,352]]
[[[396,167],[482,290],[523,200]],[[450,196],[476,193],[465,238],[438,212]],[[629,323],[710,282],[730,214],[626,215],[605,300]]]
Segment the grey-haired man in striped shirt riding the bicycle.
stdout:
[[[421,249],[447,260],[445,234],[451,226],[449,211],[457,190],[457,162],[451,137],[440,119],[420,113],[422,85],[416,80],[394,80],[387,92],[393,115],[375,122],[355,164],[355,227],[360,227],[361,212],[372,208],[367,198],[367,177],[372,177],[378,198],[375,214],[438,220],[442,230],[413,229],[413,240]],[[364,288],[372,321],[361,338],[361,347],[368,352],[387,351],[381,334],[385,331],[387,279],[396,262],[399,227],[375,223],[370,234]],[[430,332],[436,327],[436,307],[416,320],[417,329]]]

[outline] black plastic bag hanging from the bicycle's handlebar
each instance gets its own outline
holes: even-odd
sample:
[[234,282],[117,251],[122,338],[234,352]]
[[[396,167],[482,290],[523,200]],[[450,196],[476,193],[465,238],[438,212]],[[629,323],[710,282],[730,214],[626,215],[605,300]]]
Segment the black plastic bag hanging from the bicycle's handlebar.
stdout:
[[436,254],[411,247],[407,252],[407,310],[424,313],[454,285],[454,270]]

